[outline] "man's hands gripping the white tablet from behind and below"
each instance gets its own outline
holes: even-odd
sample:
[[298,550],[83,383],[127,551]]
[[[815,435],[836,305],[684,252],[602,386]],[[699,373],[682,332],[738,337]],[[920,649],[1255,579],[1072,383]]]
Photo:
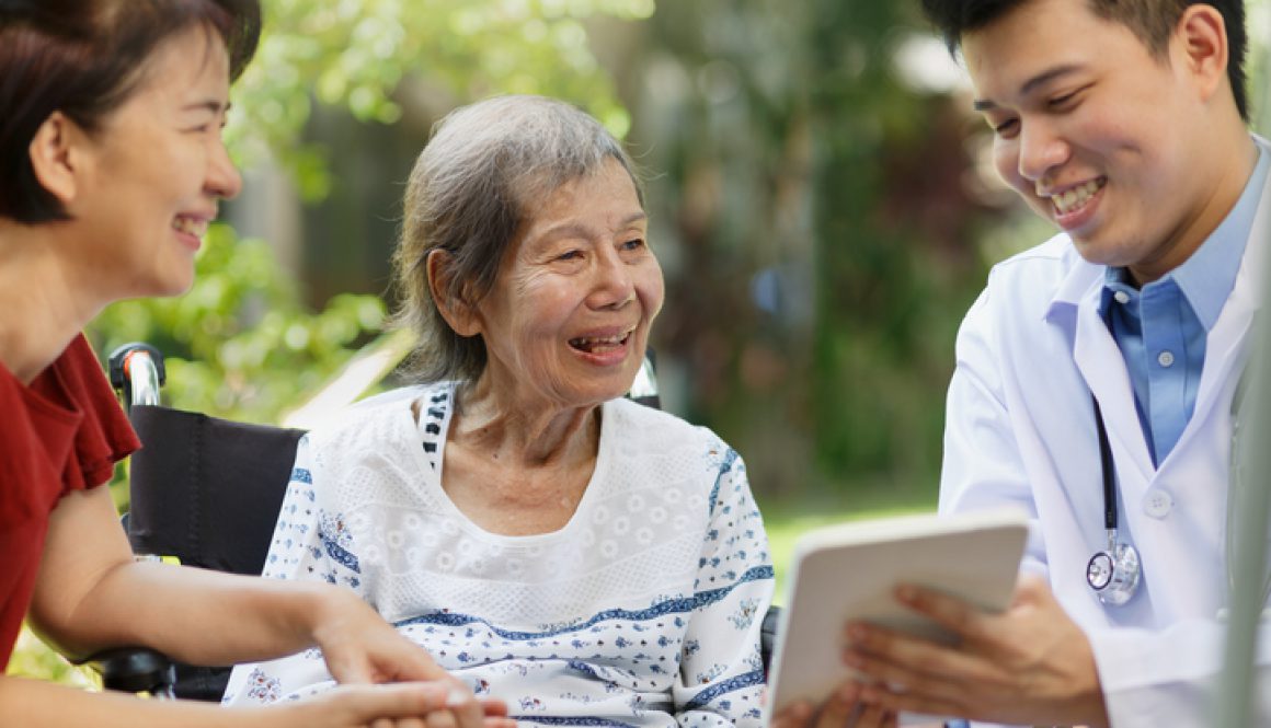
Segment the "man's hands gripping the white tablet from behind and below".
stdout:
[[1089,640],[1045,581],[1022,577],[1002,614],[914,586],[897,587],[896,598],[956,634],[960,644],[848,624],[843,661],[858,677],[820,706],[783,710],[775,728],[895,725],[901,711],[1009,724],[1107,725]]

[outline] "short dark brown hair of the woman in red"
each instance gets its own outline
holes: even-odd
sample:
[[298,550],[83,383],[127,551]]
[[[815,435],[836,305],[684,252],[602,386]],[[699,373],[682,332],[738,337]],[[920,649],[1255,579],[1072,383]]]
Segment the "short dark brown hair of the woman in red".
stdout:
[[259,0],[0,0],[0,216],[27,225],[67,212],[31,165],[55,112],[88,133],[122,105],[168,38],[205,28],[238,79],[261,37]]

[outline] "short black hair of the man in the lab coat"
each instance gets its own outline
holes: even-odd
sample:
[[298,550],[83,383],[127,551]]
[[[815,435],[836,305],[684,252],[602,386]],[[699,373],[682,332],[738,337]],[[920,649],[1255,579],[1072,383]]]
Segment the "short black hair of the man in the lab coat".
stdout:
[[[951,53],[962,44],[962,36],[979,30],[1032,0],[923,0],[923,11],[944,37]],[[1169,44],[1169,36],[1191,5],[1210,5],[1223,15],[1227,27],[1229,57],[1227,78],[1232,83],[1235,108],[1240,118],[1249,121],[1248,91],[1246,89],[1244,57],[1248,33],[1244,28],[1244,0],[1071,0],[1085,3],[1099,18],[1127,27],[1144,46],[1162,56]]]

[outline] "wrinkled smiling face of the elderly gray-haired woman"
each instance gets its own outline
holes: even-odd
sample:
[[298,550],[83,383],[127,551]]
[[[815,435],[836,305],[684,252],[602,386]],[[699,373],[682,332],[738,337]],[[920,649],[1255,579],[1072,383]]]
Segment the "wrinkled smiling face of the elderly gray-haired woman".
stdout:
[[646,234],[616,160],[549,194],[478,304],[492,384],[563,407],[625,394],[662,307]]

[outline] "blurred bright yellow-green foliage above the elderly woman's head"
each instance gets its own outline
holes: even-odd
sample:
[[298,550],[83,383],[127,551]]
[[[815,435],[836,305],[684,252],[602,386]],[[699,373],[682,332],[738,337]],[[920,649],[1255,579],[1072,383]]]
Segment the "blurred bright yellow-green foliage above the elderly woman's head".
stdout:
[[304,196],[322,199],[330,150],[297,145],[315,104],[393,123],[404,80],[444,94],[444,108],[494,93],[557,95],[624,136],[627,112],[583,23],[647,18],[653,1],[275,0],[266,10],[261,51],[235,90],[230,137],[248,165],[253,155],[280,155]]

